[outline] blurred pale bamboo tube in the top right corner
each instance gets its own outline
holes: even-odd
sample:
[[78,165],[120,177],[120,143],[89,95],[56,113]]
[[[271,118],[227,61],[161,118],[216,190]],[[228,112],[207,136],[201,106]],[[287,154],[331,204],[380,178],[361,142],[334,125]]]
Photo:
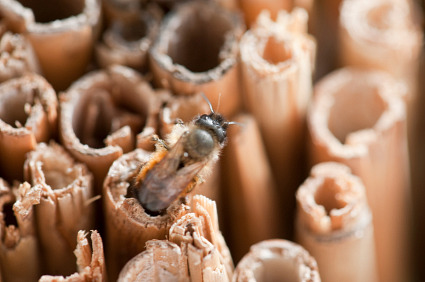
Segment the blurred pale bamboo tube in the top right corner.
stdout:
[[406,98],[416,103],[423,34],[413,4],[410,0],[342,1],[339,48],[343,66],[392,74],[407,84]]

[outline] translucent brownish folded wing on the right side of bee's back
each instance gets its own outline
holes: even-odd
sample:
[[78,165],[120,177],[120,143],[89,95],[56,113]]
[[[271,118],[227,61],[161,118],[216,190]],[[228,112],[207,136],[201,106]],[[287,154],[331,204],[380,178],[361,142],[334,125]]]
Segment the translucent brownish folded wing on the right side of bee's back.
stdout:
[[139,200],[149,211],[158,212],[166,209],[205,165],[206,162],[196,162],[176,171],[168,171],[168,174],[165,174],[164,171],[156,173],[156,171],[153,171],[155,168],[153,168],[146,175],[142,189],[138,192]]

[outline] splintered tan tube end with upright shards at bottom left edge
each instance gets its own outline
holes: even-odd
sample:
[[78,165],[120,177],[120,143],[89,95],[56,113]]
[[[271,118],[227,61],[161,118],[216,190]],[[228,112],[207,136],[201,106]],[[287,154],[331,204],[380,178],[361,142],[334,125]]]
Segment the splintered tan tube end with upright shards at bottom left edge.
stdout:
[[105,256],[103,254],[102,238],[96,230],[91,231],[91,247],[87,240],[88,233],[80,230],[77,235],[77,247],[74,254],[77,258],[78,272],[68,276],[43,275],[40,282],[79,282],[107,281]]

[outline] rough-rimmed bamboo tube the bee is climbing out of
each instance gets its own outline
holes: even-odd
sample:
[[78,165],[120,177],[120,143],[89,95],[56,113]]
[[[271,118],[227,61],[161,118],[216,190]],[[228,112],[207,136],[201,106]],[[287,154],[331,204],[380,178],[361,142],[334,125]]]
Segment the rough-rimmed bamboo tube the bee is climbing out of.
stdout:
[[169,206],[163,215],[150,216],[137,199],[126,197],[135,172],[151,155],[152,152],[142,149],[123,155],[112,164],[104,182],[107,267],[113,280],[127,261],[145,249],[148,240],[165,239],[175,220],[189,210],[182,199]]

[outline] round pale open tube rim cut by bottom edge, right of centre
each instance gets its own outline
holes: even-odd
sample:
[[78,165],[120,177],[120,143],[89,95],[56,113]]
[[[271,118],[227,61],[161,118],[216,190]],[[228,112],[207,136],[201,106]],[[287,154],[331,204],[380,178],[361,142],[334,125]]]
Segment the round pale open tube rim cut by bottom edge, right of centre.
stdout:
[[286,240],[266,240],[253,246],[238,263],[233,282],[319,282],[317,263],[301,246]]

